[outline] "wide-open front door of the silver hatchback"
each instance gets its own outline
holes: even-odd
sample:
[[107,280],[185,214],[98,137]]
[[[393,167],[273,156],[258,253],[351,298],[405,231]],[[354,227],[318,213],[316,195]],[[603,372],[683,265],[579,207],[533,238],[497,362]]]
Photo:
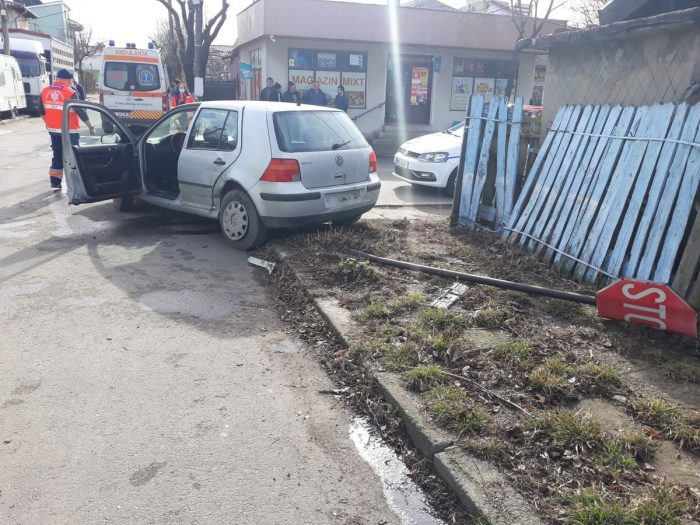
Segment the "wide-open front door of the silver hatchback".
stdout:
[[[70,132],[70,121],[80,122]],[[83,118],[95,127],[90,134]],[[104,106],[69,100],[63,108],[63,172],[71,204],[98,202],[139,193],[140,163],[136,138]]]

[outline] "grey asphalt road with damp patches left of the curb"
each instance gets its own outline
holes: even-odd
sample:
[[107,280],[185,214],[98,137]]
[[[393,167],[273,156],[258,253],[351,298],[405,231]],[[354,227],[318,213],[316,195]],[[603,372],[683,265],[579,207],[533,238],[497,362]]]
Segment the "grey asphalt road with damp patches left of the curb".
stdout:
[[0,126],[0,523],[399,522],[262,270],[213,223],[69,207],[47,139]]

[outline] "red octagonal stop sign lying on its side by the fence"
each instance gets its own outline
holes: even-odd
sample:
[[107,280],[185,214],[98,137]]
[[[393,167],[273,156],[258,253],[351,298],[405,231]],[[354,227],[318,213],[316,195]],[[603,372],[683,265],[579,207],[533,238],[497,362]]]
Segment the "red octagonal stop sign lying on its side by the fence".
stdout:
[[622,279],[596,294],[598,315],[697,337],[698,315],[665,284]]

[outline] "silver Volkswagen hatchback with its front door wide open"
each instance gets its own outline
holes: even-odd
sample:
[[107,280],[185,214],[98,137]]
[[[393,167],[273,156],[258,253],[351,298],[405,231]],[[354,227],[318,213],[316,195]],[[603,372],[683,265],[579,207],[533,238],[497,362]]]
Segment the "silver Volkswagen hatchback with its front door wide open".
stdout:
[[[98,124],[96,135],[71,137],[76,111]],[[381,186],[374,151],[345,113],[278,102],[179,106],[137,139],[104,106],[71,100],[63,156],[71,204],[114,199],[126,211],[137,197],[218,219],[241,250],[269,228],[355,222]]]

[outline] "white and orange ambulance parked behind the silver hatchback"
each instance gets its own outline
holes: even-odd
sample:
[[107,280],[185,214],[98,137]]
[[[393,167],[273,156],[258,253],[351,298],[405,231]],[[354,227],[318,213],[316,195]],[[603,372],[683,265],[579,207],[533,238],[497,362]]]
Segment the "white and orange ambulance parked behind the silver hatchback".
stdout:
[[100,104],[112,110],[136,135],[166,113],[168,79],[155,49],[105,47],[99,78]]

